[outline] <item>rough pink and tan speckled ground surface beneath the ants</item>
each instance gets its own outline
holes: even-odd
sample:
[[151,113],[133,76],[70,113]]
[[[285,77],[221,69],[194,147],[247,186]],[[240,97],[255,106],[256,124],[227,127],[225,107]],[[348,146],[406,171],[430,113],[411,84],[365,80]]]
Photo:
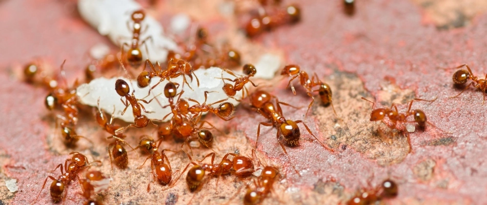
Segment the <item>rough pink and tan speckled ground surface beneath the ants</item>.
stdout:
[[[399,195],[384,203],[487,204],[487,105],[481,91],[473,88],[449,98],[461,88],[453,86],[455,70],[442,69],[469,64],[481,78],[487,73],[484,1],[358,1],[353,17],[343,14],[339,1],[300,1],[303,15],[299,24],[253,40],[240,37],[240,42],[232,40],[242,36],[235,26],[238,21],[222,18],[215,11],[220,2],[200,2],[204,1],[161,1],[155,15],[167,25],[177,12],[191,14],[210,33],[227,33],[234,45],[241,45],[244,60],[252,62],[252,57],[246,57],[255,55],[250,53],[252,49],[281,52],[288,63],[316,72],[333,90],[338,117],[318,101],[305,117],[309,98],[301,88],[294,96],[286,89],[287,80],[280,77],[271,82],[275,87],[265,88],[280,100],[302,107],[285,108],[284,114],[305,120],[318,139],[335,152],[324,150],[300,126],[300,146],[287,148],[290,161],[275,139],[275,128],[263,129],[257,156],[263,165],[281,171],[275,192],[264,203],[343,203],[361,187],[375,187],[392,178],[399,185]],[[284,1],[287,3],[290,1]],[[97,43],[110,43],[79,18],[73,1],[4,0],[0,1],[0,19],[0,204],[31,203],[45,177],[57,177],[58,172],[49,171],[72,151],[103,161],[103,166],[91,169],[102,170],[113,179],[109,191],[100,195],[107,204],[242,203],[248,181],[231,176],[220,178],[218,187],[212,178],[196,193],[188,191],[184,180],[166,191],[152,183],[147,193],[147,183],[153,180],[150,168],[136,169],[145,155],[139,153],[137,159],[131,152],[127,170],[111,170],[106,146],[100,146],[108,144],[104,139],[107,134],[94,123],[89,108],[84,109],[77,132],[93,140],[95,146],[80,140],[77,148],[66,148],[55,130],[55,113],[43,105],[46,91],[22,81],[18,75],[21,65],[42,57],[55,70],[67,59],[65,68],[72,82],[82,76],[88,62],[86,52]],[[371,104],[361,96],[375,99],[377,106],[396,103],[402,112],[413,98],[437,97],[433,103],[416,102],[413,109],[422,109],[432,124],[447,133],[431,126],[417,129],[409,134],[410,147],[407,136],[369,121]],[[241,107],[228,123],[215,117],[207,119],[225,130],[216,134],[213,149],[218,152],[217,160],[235,151],[250,156],[256,122],[266,121]],[[128,142],[136,145],[143,133],[155,134],[153,129],[131,131]],[[177,150],[179,146],[180,142],[163,142],[166,148]],[[193,151],[198,159],[211,152]],[[168,157],[174,170],[189,161],[183,152],[169,153]],[[5,187],[5,180],[11,178],[18,181],[16,193]],[[65,204],[82,203],[76,194],[80,191],[77,183],[71,183],[68,190]],[[38,203],[51,203],[48,189],[43,190]]]

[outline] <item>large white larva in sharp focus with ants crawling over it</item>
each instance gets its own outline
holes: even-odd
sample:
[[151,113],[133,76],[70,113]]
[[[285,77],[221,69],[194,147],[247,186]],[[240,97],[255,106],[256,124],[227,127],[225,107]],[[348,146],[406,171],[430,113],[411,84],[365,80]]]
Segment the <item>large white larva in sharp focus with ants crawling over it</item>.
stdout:
[[[188,75],[185,76],[190,86],[188,86],[186,83],[183,84],[182,75],[176,78],[171,78],[171,82],[175,84],[179,84],[177,88],[177,94],[179,94],[184,89],[185,92],[181,95],[181,99],[186,99],[186,101],[188,101],[189,103],[189,106],[193,106],[196,103],[187,100],[188,98],[192,98],[198,101],[200,104],[204,103],[205,96],[202,95],[201,93],[204,93],[205,91],[210,92],[208,93],[208,99],[206,102],[207,104],[211,104],[213,102],[219,100],[225,100],[228,98],[225,101],[228,101],[229,103],[232,103],[233,105],[236,106],[239,104],[237,100],[241,99],[242,91],[237,91],[237,94],[234,96],[236,100],[234,98],[229,98],[225,94],[225,92],[221,89],[224,86],[223,81],[220,79],[221,73],[223,73],[224,77],[228,77],[228,78],[233,77],[220,68],[212,67],[209,69],[198,69],[194,72],[194,75],[196,75],[199,79],[199,87],[197,85],[197,81],[194,76],[193,76],[193,80],[191,80],[190,76]],[[145,99],[149,101],[150,99],[155,97],[155,99],[152,100],[149,104],[143,103],[145,109],[149,112],[149,113],[143,112],[143,114],[147,115],[147,117],[151,119],[160,120],[165,115],[171,113],[171,108],[169,106],[163,108],[163,106],[169,105],[168,98],[164,96],[164,87],[169,81],[164,80],[161,83],[159,83],[160,80],[159,77],[153,77],[150,86],[146,88],[139,88],[137,87],[137,83],[135,80],[131,81],[123,77],[114,77],[110,79],[104,77],[96,78],[93,79],[89,84],[83,84],[77,88],[76,94],[79,97],[80,103],[84,105],[96,107],[97,100],[99,98],[100,99],[99,107],[102,110],[104,110],[107,113],[114,112],[115,118],[119,118],[127,122],[133,122],[134,116],[132,114],[131,106],[128,107],[124,115],[121,115],[121,112],[124,110],[125,106],[123,103],[121,103],[120,96],[117,94],[117,92],[114,89],[115,81],[117,79],[124,79],[129,84],[130,87],[129,95],[131,95],[135,89],[134,95],[135,98],[137,99]],[[157,85],[154,89],[151,90],[151,87],[156,85],[157,83],[159,83],[159,85]],[[151,91],[150,94],[148,95],[149,90]],[[212,107],[218,108],[218,105],[219,104],[213,105]],[[114,109],[115,111],[113,111]],[[167,121],[169,119],[171,118],[168,117],[165,120]]]

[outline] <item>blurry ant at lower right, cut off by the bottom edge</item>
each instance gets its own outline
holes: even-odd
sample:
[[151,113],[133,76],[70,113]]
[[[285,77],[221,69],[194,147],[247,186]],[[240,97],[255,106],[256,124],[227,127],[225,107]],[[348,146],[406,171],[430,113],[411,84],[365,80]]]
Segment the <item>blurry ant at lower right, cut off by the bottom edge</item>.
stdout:
[[353,198],[351,198],[347,204],[348,205],[356,205],[356,204],[374,204],[377,201],[386,198],[394,198],[398,194],[397,184],[391,180],[386,179],[382,181],[380,187],[371,190],[364,190],[360,193],[357,193]]

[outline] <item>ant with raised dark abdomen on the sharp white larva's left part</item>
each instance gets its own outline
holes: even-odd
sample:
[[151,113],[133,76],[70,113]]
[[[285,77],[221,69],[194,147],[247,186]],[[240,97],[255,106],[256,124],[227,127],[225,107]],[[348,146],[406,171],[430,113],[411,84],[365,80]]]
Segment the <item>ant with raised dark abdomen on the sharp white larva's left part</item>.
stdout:
[[[145,128],[149,124],[149,122],[151,122],[151,124],[154,127],[157,127],[157,125],[155,125],[154,122],[152,122],[153,119],[149,119],[146,115],[142,114],[141,110],[144,110],[144,112],[147,112],[147,111],[144,108],[144,106],[138,102],[138,101],[143,101],[144,103],[149,104],[154,98],[152,98],[149,101],[146,101],[144,99],[137,99],[137,98],[135,98],[135,95],[134,95],[135,90],[133,90],[132,94],[129,95],[130,87],[127,84],[127,82],[123,79],[117,79],[117,81],[115,82],[115,91],[117,91],[117,94],[121,96],[120,101],[125,106],[125,109],[121,114],[123,115],[125,113],[125,111],[127,110],[127,108],[129,106],[132,106],[132,112],[133,112],[133,115],[135,117],[134,124],[131,124],[125,128],[119,128],[115,131],[115,133],[124,132],[129,127]],[[125,97],[125,101],[122,100],[123,97]]]

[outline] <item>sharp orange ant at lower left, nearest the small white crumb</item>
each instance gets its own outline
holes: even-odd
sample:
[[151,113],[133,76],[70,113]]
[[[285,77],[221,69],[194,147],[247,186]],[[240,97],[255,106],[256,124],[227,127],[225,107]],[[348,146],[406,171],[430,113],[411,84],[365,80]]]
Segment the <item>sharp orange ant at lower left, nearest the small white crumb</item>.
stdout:
[[63,195],[65,186],[68,185],[69,182],[74,180],[74,178],[78,176],[79,172],[88,168],[94,162],[102,163],[99,160],[89,163],[88,158],[79,152],[71,152],[69,154],[73,156],[71,156],[71,158],[69,159],[66,159],[66,161],[64,162],[64,172],[63,172],[63,163],[59,163],[59,165],[57,165],[57,167],[54,168],[54,170],[52,171],[55,171],[57,168],[60,168],[59,170],[61,172],[61,175],[57,177],[57,179],[52,176],[47,176],[46,180],[44,180],[42,188],[39,191],[39,194],[37,194],[37,197],[35,198],[34,202],[32,202],[32,204],[35,203],[35,201],[37,201],[37,199],[39,198],[40,193],[42,193],[42,190],[46,186],[46,182],[48,178],[52,179],[52,183],[49,189],[51,193],[51,199],[53,202],[57,203],[66,197],[67,192],[65,193],[65,195]]

